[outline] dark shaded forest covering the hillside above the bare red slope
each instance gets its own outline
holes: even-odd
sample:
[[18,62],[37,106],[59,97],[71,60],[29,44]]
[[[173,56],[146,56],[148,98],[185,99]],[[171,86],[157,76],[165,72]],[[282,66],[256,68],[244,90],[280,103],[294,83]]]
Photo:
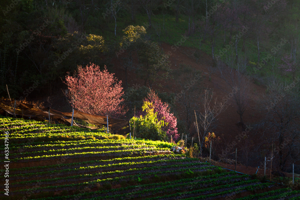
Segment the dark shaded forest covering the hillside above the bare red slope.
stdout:
[[[90,62],[106,64],[114,72],[111,60],[127,49],[122,40],[129,25],[143,26],[142,39],[156,43],[128,46],[127,54],[158,50],[155,45],[161,42],[173,45],[167,54],[190,46],[208,53],[216,63],[244,62],[245,73],[258,80],[291,81],[299,73],[299,4],[296,0],[3,0],[0,94],[7,96],[6,84],[12,97],[24,96],[22,92],[33,84],[48,94],[61,88],[68,71]],[[131,56],[119,59],[126,70],[143,71],[147,66],[140,56],[140,65],[132,64]],[[161,71],[168,72],[169,67]],[[149,78],[145,85],[157,78]]]

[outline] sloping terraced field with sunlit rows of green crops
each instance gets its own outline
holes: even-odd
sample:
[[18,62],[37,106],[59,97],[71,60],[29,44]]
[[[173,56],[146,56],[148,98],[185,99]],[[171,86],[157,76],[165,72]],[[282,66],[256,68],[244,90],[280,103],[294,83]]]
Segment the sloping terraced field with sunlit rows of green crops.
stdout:
[[1,199],[300,198],[297,190],[173,154],[168,142],[8,117],[0,117],[0,129],[1,155],[8,147],[10,161],[9,196],[2,190]]

